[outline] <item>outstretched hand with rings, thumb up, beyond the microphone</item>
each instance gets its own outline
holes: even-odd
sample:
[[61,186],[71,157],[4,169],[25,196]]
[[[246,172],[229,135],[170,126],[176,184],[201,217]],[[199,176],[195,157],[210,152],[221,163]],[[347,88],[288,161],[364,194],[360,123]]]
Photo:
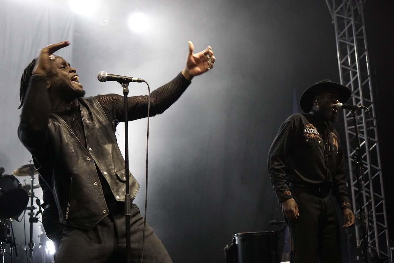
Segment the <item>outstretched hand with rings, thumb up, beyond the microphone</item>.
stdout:
[[[182,71],[183,75],[189,79],[193,76],[200,75],[214,67],[215,56],[210,46],[206,47],[203,51],[193,54],[194,45],[189,41],[189,54],[186,59],[186,68]],[[186,73],[186,74],[185,74]]]

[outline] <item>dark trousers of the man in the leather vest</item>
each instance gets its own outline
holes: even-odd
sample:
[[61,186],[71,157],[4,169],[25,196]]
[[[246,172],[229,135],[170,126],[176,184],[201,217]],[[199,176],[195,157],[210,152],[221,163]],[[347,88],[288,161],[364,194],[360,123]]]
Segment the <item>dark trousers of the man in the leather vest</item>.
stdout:
[[[131,262],[141,261],[144,220],[137,205],[131,208]],[[93,229],[66,227],[56,254],[56,263],[126,262],[125,213],[122,210],[104,218]],[[162,242],[146,226],[143,262],[172,262]]]

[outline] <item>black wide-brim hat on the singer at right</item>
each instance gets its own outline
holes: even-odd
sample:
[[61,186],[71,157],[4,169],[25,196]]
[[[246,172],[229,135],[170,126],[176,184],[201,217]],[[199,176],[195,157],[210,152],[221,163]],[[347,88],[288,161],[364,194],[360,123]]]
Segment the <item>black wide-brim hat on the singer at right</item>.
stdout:
[[299,106],[304,112],[310,112],[313,106],[313,98],[323,91],[335,90],[338,92],[340,103],[345,103],[351,96],[351,90],[346,86],[332,82],[331,80],[321,80],[316,84],[307,88],[304,93],[302,93],[299,99]]

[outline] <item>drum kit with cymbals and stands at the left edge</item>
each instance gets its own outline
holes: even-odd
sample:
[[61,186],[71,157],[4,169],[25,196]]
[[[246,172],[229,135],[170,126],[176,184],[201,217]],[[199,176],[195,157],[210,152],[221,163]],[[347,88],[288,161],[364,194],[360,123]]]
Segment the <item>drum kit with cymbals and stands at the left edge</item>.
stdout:
[[[38,222],[36,217],[41,213],[40,201],[34,195],[34,189],[40,186],[34,183],[34,176],[38,175],[37,170],[33,164],[26,164],[14,170],[11,175],[3,174],[4,168],[0,168],[0,263],[4,263],[4,256],[6,253],[6,245],[9,244],[9,255],[13,257],[18,256],[17,246],[15,244],[15,236],[13,233],[12,222],[18,221],[18,217],[24,211],[29,211],[30,216],[30,263],[33,259],[33,223]],[[17,177],[30,177],[30,184],[21,184]],[[27,207],[30,198],[30,207]],[[39,212],[34,215],[33,210],[37,207],[33,206],[34,198],[39,206]]]

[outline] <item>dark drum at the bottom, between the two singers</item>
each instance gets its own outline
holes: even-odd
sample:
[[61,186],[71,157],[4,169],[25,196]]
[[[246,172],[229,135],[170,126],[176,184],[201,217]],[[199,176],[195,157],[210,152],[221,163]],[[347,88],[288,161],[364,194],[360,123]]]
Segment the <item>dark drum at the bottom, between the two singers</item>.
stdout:
[[276,231],[233,234],[226,263],[279,263],[278,239]]

